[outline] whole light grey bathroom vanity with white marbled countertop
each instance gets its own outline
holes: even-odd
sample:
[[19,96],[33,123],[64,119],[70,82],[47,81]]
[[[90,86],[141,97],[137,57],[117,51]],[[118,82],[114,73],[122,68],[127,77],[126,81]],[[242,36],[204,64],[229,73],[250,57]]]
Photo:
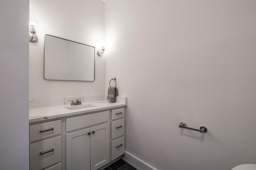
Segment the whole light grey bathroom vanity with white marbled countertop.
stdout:
[[124,154],[121,102],[30,109],[30,170],[97,170]]

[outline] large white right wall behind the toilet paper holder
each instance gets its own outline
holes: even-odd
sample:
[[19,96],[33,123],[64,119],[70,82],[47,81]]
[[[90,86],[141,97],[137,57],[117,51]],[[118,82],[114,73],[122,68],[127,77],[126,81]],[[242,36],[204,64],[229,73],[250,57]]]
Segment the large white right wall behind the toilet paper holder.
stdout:
[[255,18],[255,0],[106,2],[105,89],[116,77],[128,98],[127,152],[159,170],[256,163]]

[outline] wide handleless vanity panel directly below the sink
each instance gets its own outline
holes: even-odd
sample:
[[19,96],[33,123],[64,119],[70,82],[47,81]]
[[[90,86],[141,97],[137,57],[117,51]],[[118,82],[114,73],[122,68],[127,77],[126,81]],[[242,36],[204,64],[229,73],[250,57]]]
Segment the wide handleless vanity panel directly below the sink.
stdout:
[[88,115],[70,117],[66,119],[66,131],[72,131],[98,123],[103,123],[109,120],[109,112],[102,111],[98,113],[91,113]]

